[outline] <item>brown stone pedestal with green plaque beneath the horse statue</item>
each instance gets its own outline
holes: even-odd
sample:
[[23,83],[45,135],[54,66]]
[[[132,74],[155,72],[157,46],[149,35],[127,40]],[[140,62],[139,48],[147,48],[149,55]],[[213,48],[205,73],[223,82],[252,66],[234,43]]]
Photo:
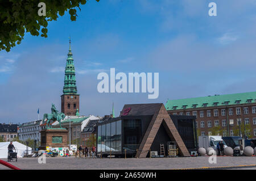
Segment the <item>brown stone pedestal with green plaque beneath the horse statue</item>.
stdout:
[[47,146],[52,148],[68,147],[68,131],[65,128],[42,129],[41,146],[39,150],[46,150]]

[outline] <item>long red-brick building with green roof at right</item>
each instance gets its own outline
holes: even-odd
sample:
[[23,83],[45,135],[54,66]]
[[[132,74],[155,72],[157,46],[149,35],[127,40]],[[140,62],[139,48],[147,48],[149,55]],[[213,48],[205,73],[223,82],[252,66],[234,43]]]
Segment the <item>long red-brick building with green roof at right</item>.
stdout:
[[165,107],[172,115],[196,116],[201,136],[217,127],[222,136],[256,138],[256,92],[167,100]]

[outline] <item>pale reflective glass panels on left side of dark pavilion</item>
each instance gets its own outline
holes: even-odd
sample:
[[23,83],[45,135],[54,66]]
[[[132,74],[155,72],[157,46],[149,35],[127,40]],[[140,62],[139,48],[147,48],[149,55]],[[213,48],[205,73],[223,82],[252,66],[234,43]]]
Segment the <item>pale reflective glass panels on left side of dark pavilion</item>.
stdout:
[[122,151],[122,121],[98,125],[97,151]]

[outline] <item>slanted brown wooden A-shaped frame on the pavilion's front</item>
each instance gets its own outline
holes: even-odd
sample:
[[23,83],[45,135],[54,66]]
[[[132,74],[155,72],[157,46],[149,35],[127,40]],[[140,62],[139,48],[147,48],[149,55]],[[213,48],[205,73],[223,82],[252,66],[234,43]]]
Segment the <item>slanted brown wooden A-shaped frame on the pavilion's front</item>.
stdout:
[[152,142],[154,141],[156,133],[158,132],[158,129],[162,123],[171,140],[176,141],[179,153],[183,157],[190,157],[191,155],[189,154],[187,147],[185,146],[183,140],[180,137],[179,132],[177,131],[174,123],[172,122],[170,115],[168,115],[168,112],[166,111],[164,104],[159,104],[159,107],[156,109],[154,116],[152,117],[152,120],[148,125],[147,131],[144,134],[141,145],[139,146],[139,149],[137,151],[136,157],[147,157],[148,150],[150,150]]

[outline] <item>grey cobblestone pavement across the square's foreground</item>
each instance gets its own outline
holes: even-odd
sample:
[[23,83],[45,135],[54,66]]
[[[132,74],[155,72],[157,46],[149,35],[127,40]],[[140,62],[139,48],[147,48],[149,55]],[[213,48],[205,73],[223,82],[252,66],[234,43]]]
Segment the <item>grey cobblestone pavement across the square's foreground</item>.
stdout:
[[[208,162],[209,157],[185,158],[46,158],[46,163],[39,164],[38,158],[18,158],[11,164],[20,169],[192,169],[201,167],[224,167],[256,165],[256,157],[217,157],[216,164]],[[7,159],[3,159],[7,161]],[[0,169],[8,169],[0,165]],[[244,169],[244,168],[243,168]],[[249,168],[256,169],[256,167]]]

